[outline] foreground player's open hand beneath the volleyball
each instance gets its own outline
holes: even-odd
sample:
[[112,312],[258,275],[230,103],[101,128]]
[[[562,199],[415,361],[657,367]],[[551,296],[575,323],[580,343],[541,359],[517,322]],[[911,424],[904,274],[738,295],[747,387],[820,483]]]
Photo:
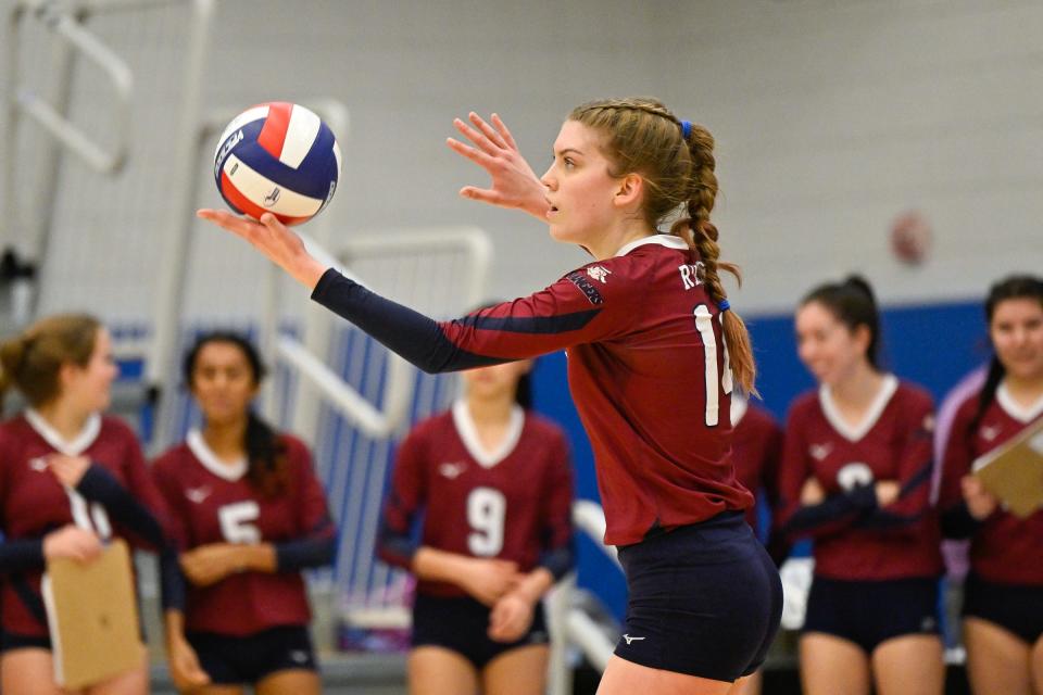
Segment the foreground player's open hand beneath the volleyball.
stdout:
[[326,271],[326,266],[307,253],[301,238],[290,231],[272,213],[261,215],[261,222],[249,217],[237,217],[223,210],[199,210],[196,216],[246,239],[269,261],[310,290],[318,285],[319,278]]

